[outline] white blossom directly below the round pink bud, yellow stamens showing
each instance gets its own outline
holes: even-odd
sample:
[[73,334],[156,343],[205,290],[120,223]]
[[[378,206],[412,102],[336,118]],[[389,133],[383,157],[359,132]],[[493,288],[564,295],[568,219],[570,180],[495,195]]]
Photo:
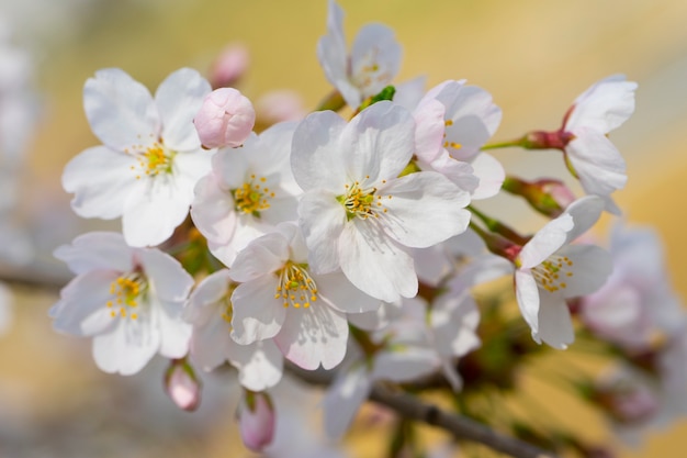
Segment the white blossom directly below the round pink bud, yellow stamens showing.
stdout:
[[297,219],[303,192],[290,167],[295,123],[251,134],[240,148],[222,148],[212,171],[195,187],[191,217],[207,246],[226,266],[249,242],[280,222]]

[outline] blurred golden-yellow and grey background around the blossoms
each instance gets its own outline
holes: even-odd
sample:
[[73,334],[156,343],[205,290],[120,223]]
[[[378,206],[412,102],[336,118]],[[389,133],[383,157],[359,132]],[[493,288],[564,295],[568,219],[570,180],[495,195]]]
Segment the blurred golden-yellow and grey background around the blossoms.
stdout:
[[[427,87],[466,78],[504,110],[495,139],[533,129],[554,129],[574,98],[616,72],[639,82],[637,111],[611,134],[628,160],[629,182],[617,193],[629,224],[650,224],[662,235],[668,272],[687,298],[687,2],[683,0],[340,0],[349,42],[364,23],[383,22],[404,47],[398,81],[418,75]],[[0,0],[13,43],[30,52],[38,120],[13,217],[37,246],[34,267],[68,278],[52,250],[77,234],[115,223],[77,220],[60,188],[65,164],[98,141],[81,108],[81,88],[103,67],[121,67],[151,90],[172,70],[209,70],[228,43],[243,43],[250,67],[241,90],[257,99],[291,89],[314,108],[330,91],[316,56],[325,33],[325,0]],[[526,178],[565,175],[551,152],[496,152],[509,171]],[[541,220],[517,201],[489,211],[520,227]],[[597,232],[604,237],[601,230]],[[23,275],[23,273],[22,273]],[[233,457],[250,456],[234,421],[230,375],[204,377],[205,399],[192,414],[165,398],[162,361],[142,373],[100,373],[90,343],[50,328],[56,290],[14,287],[13,326],[0,336],[0,457]],[[308,388],[294,405],[316,401]],[[604,423],[533,382],[559,420],[595,438]],[[284,412],[291,412],[285,407]],[[376,421],[370,413],[369,421]],[[317,413],[285,415],[293,437],[318,428]],[[379,418],[378,418],[379,420]],[[375,436],[356,429],[350,456],[381,456]],[[303,436],[306,437],[306,436]],[[687,422],[657,432],[624,457],[687,456]],[[294,439],[295,440],[295,439]],[[274,456],[279,456],[274,455]],[[284,451],[285,456],[285,451]],[[317,456],[317,455],[314,455]]]

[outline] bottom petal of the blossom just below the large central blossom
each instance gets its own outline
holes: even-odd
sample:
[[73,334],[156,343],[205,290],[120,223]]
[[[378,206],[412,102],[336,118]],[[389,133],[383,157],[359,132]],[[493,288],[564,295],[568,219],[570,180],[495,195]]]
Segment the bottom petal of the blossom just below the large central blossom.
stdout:
[[289,308],[274,343],[284,358],[303,369],[331,369],[346,356],[348,322],[342,312],[317,302],[307,309]]

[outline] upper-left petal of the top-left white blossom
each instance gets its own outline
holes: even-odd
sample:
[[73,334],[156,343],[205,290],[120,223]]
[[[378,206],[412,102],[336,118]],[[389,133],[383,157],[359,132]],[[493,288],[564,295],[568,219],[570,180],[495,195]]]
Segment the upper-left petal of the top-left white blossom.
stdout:
[[160,121],[150,92],[119,68],[86,81],[83,109],[95,136],[115,150],[157,141]]

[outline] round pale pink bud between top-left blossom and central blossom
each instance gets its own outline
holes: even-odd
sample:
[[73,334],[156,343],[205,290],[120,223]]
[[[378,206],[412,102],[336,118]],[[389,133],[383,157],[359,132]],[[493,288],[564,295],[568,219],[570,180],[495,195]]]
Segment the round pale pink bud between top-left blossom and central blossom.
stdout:
[[250,100],[234,88],[215,89],[203,100],[193,124],[206,148],[241,145],[256,123]]

